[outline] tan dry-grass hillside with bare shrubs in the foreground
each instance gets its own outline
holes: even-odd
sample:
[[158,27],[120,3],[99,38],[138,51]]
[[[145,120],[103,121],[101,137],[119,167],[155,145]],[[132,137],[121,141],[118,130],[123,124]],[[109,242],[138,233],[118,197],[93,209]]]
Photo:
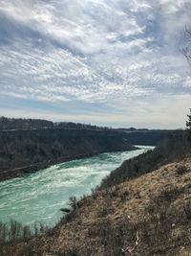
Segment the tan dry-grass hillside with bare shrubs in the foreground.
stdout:
[[190,255],[191,158],[96,191],[52,230],[2,255]]

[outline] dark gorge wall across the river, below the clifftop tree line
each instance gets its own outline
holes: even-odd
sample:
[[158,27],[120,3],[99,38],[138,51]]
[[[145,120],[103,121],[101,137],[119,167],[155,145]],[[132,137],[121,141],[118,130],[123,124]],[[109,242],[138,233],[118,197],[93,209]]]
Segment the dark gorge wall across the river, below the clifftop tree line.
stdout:
[[0,180],[107,151],[132,151],[125,133],[39,129],[0,132]]

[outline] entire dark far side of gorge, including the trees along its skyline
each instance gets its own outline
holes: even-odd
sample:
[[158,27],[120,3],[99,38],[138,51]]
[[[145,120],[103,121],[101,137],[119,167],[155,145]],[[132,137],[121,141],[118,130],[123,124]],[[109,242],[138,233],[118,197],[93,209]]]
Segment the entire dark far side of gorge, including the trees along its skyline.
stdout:
[[136,149],[131,145],[155,146],[168,133],[5,117],[0,128],[0,180],[100,152]]

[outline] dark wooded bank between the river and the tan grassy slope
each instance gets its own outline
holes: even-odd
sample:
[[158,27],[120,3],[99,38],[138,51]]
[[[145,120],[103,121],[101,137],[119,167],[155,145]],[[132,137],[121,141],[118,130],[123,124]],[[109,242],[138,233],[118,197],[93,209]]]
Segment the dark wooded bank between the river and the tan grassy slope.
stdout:
[[159,143],[153,151],[147,151],[126,160],[102,180],[100,188],[110,187],[123,181],[150,173],[162,165],[177,162],[191,156],[191,144],[186,130],[175,130]]

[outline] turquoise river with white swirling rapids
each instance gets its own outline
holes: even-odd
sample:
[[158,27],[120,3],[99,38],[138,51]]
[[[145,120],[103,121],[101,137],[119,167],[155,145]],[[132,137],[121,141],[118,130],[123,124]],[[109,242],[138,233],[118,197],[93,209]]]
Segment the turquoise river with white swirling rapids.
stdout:
[[124,160],[153,149],[138,147],[137,151],[101,153],[0,182],[0,221],[39,221],[52,226],[63,216],[59,209],[69,207],[70,197],[90,194]]

